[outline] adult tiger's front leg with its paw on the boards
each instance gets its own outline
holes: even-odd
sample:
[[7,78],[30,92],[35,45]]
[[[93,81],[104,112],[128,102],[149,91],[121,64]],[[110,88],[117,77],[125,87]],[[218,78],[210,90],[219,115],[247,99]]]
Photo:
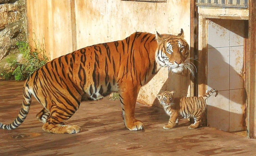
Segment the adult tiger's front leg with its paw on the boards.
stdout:
[[144,128],[144,124],[134,117],[139,88],[134,86],[129,88],[129,85],[132,85],[132,83],[126,82],[125,88],[122,88],[122,90],[119,91],[123,122],[129,130],[140,130]]

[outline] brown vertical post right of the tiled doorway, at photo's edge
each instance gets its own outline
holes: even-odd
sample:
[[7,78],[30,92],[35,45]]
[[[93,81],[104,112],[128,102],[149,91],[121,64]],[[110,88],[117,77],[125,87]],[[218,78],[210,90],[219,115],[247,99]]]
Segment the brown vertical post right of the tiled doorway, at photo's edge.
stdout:
[[249,48],[246,60],[248,63],[249,73],[247,73],[248,84],[248,106],[247,106],[247,136],[249,138],[256,138],[256,90],[255,90],[255,57],[256,57],[256,0],[249,1]]

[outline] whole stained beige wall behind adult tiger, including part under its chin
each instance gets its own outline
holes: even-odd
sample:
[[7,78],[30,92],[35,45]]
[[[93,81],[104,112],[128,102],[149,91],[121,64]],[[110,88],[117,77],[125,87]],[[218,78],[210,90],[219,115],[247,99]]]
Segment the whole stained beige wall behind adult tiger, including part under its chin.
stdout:
[[[40,40],[44,38],[51,59],[88,45],[124,39],[136,31],[178,34],[183,28],[189,43],[190,0],[167,0],[166,3],[28,0],[28,28],[30,38],[32,32]],[[148,105],[157,103],[156,95],[166,89],[187,95],[189,83],[186,73],[168,75],[166,70],[160,70],[141,89],[138,101]]]

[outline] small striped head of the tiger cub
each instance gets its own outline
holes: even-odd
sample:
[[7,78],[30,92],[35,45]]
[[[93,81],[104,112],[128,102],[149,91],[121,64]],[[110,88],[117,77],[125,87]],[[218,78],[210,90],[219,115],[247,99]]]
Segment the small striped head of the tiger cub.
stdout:
[[157,95],[157,98],[159,100],[159,102],[161,103],[161,105],[163,106],[168,106],[168,105],[173,105],[173,94],[174,91],[164,91],[161,94]]

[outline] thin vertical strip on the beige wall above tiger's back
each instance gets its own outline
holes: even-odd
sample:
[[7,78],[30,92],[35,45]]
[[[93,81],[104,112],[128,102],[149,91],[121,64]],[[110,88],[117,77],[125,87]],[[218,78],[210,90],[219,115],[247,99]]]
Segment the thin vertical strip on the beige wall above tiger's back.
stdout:
[[77,50],[76,43],[76,19],[75,19],[75,0],[70,0],[71,11],[71,34],[72,34],[72,50]]

